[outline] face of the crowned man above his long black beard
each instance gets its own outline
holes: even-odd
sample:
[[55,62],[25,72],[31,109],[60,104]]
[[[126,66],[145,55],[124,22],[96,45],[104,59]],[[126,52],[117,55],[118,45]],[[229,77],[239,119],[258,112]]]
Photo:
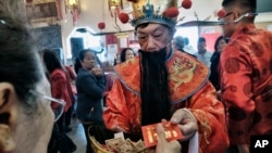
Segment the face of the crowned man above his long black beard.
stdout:
[[169,28],[156,23],[138,27],[136,35],[140,49],[146,52],[159,51],[170,44],[172,40]]

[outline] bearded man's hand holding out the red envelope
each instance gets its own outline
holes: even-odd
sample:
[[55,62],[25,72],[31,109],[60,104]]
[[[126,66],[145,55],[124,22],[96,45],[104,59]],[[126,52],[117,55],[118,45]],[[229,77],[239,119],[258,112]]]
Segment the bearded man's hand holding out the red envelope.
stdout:
[[173,114],[170,122],[173,124],[177,124],[184,136],[184,138],[182,139],[183,141],[190,139],[198,130],[197,119],[188,110],[185,109],[177,110]]

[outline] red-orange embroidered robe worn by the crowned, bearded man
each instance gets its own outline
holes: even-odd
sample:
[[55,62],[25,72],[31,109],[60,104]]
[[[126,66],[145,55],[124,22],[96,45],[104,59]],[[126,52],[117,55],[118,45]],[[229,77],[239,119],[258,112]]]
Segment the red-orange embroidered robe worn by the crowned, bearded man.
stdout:
[[[208,81],[209,69],[180,51],[165,62],[169,71],[172,112],[188,109],[198,122],[199,152],[222,153],[227,148],[224,106],[215,98]],[[107,98],[103,114],[109,129],[121,127],[125,132],[140,132],[140,72],[139,58],[115,67],[118,79]],[[153,102],[156,104],[156,102]]]

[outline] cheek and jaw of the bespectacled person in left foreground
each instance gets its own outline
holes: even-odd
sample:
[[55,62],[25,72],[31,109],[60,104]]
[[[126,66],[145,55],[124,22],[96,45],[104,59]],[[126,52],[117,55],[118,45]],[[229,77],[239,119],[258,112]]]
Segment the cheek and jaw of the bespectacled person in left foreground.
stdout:
[[[11,84],[7,85],[7,87],[12,86]],[[4,87],[2,82],[0,82],[1,87]],[[4,90],[0,90],[0,94],[2,91]],[[29,103],[37,103],[37,107],[23,105],[23,102],[17,99],[15,90],[13,91],[11,90],[8,97],[7,106],[3,106],[10,116],[7,119],[8,124],[0,123],[0,152],[47,153],[54,115],[50,106],[50,101],[39,94],[50,95],[48,80],[44,76],[35,90],[38,93],[38,98],[34,101],[29,100]],[[1,107],[0,114],[3,114]]]

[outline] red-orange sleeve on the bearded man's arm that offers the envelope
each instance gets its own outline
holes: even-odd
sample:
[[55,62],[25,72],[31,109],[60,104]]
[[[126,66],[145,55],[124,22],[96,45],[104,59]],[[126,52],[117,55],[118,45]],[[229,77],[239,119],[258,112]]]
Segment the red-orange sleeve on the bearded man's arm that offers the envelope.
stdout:
[[228,146],[224,105],[217,99],[215,89],[208,82],[190,99],[188,110],[198,123],[201,152],[224,152]]

